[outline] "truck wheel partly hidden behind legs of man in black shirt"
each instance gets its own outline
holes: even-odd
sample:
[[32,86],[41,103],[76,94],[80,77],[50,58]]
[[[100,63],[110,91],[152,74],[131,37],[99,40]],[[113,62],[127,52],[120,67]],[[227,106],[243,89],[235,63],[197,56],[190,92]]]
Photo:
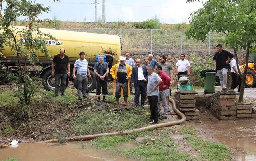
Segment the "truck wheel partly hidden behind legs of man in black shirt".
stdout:
[[[54,90],[55,89],[55,77],[52,76],[52,70],[48,70],[43,75],[43,86],[46,90]],[[68,87],[68,77],[66,79],[66,88]]]

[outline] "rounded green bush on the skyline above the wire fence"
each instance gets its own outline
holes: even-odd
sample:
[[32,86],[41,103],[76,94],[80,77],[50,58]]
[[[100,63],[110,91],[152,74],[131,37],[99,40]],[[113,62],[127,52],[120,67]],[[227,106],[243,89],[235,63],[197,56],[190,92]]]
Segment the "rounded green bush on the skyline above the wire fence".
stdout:
[[158,29],[160,26],[159,19],[154,17],[143,22],[133,22],[132,26],[140,29]]

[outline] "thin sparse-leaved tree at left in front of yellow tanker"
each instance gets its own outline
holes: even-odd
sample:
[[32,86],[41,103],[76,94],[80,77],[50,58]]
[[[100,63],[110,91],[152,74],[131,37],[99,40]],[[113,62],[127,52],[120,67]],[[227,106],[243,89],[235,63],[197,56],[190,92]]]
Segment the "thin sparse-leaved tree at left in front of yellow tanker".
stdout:
[[[18,74],[14,76],[18,85],[17,96],[21,103],[28,105],[37,87],[26,72],[27,64],[22,66],[20,60],[25,58],[25,62],[36,65],[36,62],[39,62],[36,53],[41,52],[48,56],[49,50],[44,40],[55,40],[55,38],[50,34],[42,33],[36,22],[40,22],[38,15],[49,12],[50,8],[36,3],[36,0],[6,0],[6,4],[6,9],[0,14],[0,52],[6,47],[14,51],[18,67]],[[26,27],[12,26],[18,17],[27,20]]]

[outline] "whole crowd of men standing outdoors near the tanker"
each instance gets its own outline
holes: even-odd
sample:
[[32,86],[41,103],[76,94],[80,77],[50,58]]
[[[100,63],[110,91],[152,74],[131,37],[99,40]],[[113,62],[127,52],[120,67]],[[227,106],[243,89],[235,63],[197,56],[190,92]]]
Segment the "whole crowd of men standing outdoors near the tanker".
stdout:
[[[222,50],[221,44],[216,46],[217,52],[213,60],[216,63],[216,72],[220,78],[222,89],[226,89],[227,72],[231,68],[232,89],[238,86],[240,91],[240,75],[236,67],[236,59],[233,54],[226,50]],[[78,100],[82,103],[82,99],[86,99],[86,87],[88,78],[91,77],[86,60],[86,53],[80,52],[80,58],[76,60],[73,68],[73,79],[77,81]],[[180,60],[176,63],[176,72],[178,78],[180,75],[190,75],[190,62],[186,60],[185,55],[181,54]],[[233,60],[230,63],[230,60]],[[106,103],[106,94],[108,94],[108,73],[113,78],[113,95],[116,97],[116,104],[119,104],[121,95],[124,97],[123,105],[127,105],[127,99],[130,93],[135,89],[134,103],[135,107],[139,105],[144,108],[146,103],[150,106],[150,123],[158,123],[160,120],[167,119],[170,115],[169,97],[171,96],[171,86],[173,85],[173,68],[168,64],[164,55],[159,58],[160,64],[153,59],[153,55],[149,54],[148,58],[134,60],[130,58],[130,54],[126,52],[120,57],[119,63],[108,68],[108,63],[104,62],[104,57],[99,56],[98,62],[94,66],[94,74],[96,76],[96,95],[97,102],[101,102],[100,95],[102,90],[102,102]],[[230,65],[229,65],[230,63]],[[54,72],[55,65],[55,72]],[[66,87],[66,71],[70,75],[69,58],[65,55],[65,50],[60,49],[60,54],[54,56],[52,61],[52,76],[55,76],[56,87],[55,96],[61,91],[61,95],[65,94]],[[140,99],[141,98],[141,99]],[[140,103],[139,103],[140,101]]]

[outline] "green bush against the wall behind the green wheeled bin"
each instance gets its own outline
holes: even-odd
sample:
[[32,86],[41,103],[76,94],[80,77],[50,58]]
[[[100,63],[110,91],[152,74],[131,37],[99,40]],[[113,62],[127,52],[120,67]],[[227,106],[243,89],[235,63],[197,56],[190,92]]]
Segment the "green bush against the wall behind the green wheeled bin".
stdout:
[[198,77],[198,80],[200,81],[200,83],[198,85],[203,87],[204,86],[204,78],[201,78],[200,72],[202,70],[214,69],[214,62],[212,60],[212,57],[209,57],[208,60],[206,60],[206,64],[204,64],[204,62],[202,62],[202,59],[200,57],[196,56],[196,54],[191,54],[190,58],[191,58],[191,62],[193,62],[193,64],[194,64],[193,74],[195,74]]

